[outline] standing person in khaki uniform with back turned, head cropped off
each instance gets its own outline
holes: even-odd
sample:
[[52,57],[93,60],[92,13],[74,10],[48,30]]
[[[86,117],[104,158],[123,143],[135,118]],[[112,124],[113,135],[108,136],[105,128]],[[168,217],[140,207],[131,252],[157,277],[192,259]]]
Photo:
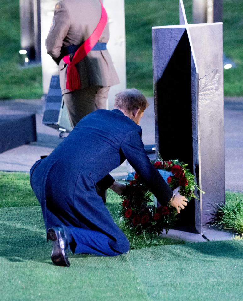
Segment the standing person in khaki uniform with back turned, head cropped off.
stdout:
[[[94,48],[76,64],[81,89],[66,89],[67,64],[62,58],[69,54],[72,59],[78,46],[95,30],[101,18],[101,11],[99,0],[59,1],[55,6],[52,26],[46,39],[47,53],[59,65],[60,86],[72,127],[92,111],[105,109],[110,86],[119,83],[111,56],[106,50],[109,40],[107,20],[97,43],[102,47]],[[103,50],[95,50],[97,48]]]

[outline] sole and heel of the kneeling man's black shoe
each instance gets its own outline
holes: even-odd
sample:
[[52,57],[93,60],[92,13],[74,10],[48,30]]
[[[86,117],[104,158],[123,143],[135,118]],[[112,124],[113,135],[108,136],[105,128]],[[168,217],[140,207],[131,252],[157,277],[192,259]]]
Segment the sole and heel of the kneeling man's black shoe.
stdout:
[[49,229],[47,232],[47,239],[52,240],[53,248],[51,260],[56,266],[70,266],[70,262],[65,258],[62,253],[62,249],[59,244],[59,239],[56,231],[54,229]]

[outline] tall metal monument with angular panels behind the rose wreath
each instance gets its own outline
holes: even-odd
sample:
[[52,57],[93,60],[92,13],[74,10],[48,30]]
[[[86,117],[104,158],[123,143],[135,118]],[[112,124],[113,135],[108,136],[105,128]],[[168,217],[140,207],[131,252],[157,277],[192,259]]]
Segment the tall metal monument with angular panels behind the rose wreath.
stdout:
[[225,202],[222,23],[152,28],[156,150],[188,163],[205,194],[181,212],[203,234]]

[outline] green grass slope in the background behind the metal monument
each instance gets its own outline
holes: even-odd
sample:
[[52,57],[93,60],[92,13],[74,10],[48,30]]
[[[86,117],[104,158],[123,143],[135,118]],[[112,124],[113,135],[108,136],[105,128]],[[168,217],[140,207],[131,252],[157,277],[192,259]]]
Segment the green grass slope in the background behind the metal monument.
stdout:
[[[189,23],[192,1],[184,0]],[[224,70],[224,94],[243,95],[242,0],[223,0],[224,52],[237,68]],[[42,96],[41,67],[19,68],[19,0],[2,0],[0,99]],[[153,96],[151,27],[179,24],[178,0],[125,0],[127,86]],[[27,87],[27,89],[26,89]]]

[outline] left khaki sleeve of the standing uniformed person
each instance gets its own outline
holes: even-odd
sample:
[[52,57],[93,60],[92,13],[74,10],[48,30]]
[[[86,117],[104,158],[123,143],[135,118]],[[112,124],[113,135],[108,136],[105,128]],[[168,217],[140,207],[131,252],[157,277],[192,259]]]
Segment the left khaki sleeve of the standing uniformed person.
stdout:
[[59,64],[61,48],[70,27],[69,12],[63,2],[55,6],[52,26],[46,39],[47,53]]

